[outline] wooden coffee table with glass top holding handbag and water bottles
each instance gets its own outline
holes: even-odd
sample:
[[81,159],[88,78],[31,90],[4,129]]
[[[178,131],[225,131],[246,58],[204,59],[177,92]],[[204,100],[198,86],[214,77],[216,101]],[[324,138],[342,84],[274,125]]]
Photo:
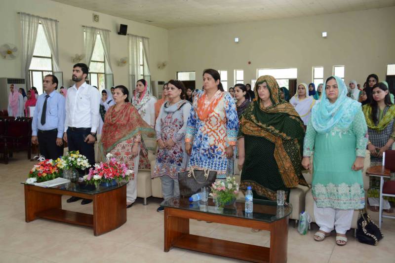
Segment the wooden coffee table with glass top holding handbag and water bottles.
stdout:
[[[251,262],[285,263],[292,206],[277,207],[276,202],[257,199],[253,202],[253,215],[247,218],[243,201],[226,206],[223,211],[216,209],[210,199],[208,203],[191,203],[182,197],[163,201],[164,251],[178,247]],[[192,235],[189,233],[190,219],[269,230],[270,248]]]

